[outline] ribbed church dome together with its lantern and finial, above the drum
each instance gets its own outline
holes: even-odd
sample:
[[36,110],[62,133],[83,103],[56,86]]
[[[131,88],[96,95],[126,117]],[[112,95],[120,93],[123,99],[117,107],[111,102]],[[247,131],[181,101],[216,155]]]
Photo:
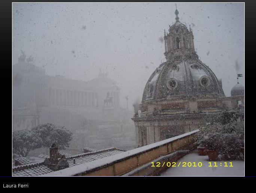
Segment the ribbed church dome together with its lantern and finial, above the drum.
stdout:
[[150,76],[144,88],[142,102],[191,97],[225,97],[222,82],[198,59],[194,49],[192,29],[179,21],[164,32],[165,58]]

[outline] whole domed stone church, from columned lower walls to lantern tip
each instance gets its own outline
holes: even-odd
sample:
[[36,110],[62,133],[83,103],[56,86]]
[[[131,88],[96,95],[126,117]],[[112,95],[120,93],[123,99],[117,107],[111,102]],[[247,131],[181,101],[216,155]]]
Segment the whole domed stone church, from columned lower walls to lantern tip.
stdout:
[[222,81],[199,60],[193,32],[179,21],[164,32],[166,62],[149,77],[141,104],[134,105],[137,146],[200,128],[223,110],[241,108],[244,96],[225,97]]

